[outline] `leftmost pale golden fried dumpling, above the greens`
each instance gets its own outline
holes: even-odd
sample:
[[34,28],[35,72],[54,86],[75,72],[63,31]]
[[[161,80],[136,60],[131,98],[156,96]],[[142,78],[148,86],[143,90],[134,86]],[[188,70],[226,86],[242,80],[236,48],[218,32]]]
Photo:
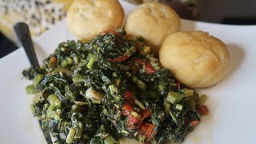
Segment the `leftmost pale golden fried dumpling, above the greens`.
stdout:
[[70,32],[83,42],[104,30],[117,30],[123,19],[118,0],[75,0],[66,16]]

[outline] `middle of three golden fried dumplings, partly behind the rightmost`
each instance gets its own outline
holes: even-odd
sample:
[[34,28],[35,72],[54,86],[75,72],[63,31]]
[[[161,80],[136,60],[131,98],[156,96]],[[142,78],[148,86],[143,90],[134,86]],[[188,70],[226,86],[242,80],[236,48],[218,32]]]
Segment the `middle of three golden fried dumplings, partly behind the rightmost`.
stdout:
[[149,2],[138,6],[126,21],[125,30],[131,36],[142,36],[154,54],[162,46],[166,37],[180,30],[178,14],[159,2]]

